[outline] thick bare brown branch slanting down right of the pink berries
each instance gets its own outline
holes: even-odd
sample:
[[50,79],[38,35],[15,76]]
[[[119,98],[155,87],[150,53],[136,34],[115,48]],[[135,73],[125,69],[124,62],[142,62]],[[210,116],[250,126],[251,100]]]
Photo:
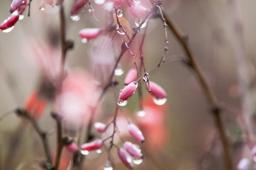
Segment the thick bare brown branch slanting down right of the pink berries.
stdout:
[[191,69],[195,71],[196,75],[199,78],[199,82],[204,89],[205,95],[207,96],[207,99],[208,99],[209,103],[211,104],[213,117],[215,119],[217,129],[219,130],[221,142],[222,142],[223,149],[224,149],[225,167],[227,170],[230,170],[230,169],[232,169],[232,160],[230,158],[230,153],[229,153],[228,139],[226,138],[225,129],[223,126],[223,122],[221,121],[221,117],[220,117],[221,111],[220,111],[219,101],[217,100],[217,97],[213,93],[212,89],[209,87],[209,84],[207,83],[207,81],[205,79],[203,70],[199,66],[198,61],[196,61],[196,58],[192,54],[191,49],[188,46],[186,36],[183,35],[183,33],[180,31],[180,29],[171,21],[171,19],[165,14],[165,12],[163,12],[163,17],[166,20],[166,24],[169,26],[171,31],[174,33],[174,36],[181,43],[184,51],[187,54],[187,57],[190,59],[188,61],[188,66],[190,66]]

